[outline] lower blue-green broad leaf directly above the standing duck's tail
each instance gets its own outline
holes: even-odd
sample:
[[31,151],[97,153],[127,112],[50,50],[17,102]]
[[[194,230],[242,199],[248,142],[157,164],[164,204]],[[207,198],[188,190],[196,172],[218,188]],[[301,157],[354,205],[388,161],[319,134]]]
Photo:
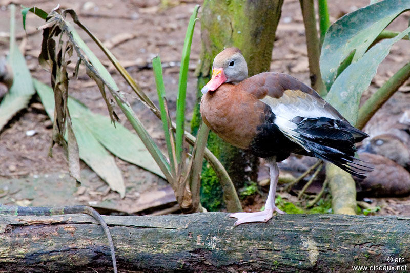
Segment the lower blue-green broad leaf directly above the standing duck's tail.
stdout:
[[360,97],[376,75],[380,62],[393,44],[409,32],[410,28],[407,28],[394,38],[382,40],[336,78],[325,99],[352,124],[357,120]]

